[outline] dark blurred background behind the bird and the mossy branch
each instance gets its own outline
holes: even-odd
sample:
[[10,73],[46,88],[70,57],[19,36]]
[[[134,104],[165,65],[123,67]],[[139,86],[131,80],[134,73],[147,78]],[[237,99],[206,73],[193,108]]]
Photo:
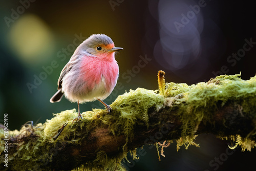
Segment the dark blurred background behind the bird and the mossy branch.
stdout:
[[[91,34],[104,33],[113,39],[116,47],[124,48],[116,55],[120,68],[118,82],[123,89],[105,99],[109,104],[125,90],[157,89],[158,70],[165,71],[168,82],[187,84],[207,81],[221,73],[241,72],[242,79],[249,79],[256,73],[255,45],[244,51],[242,57],[229,57],[243,52],[245,39],[256,41],[253,1],[21,2],[1,1],[0,5],[0,113],[2,118],[8,114],[10,130],[19,129],[28,120],[45,122],[53,117],[52,113],[77,108],[76,103],[65,98],[58,103],[49,102],[57,90],[60,71],[77,47],[75,35],[85,39]],[[195,5],[202,7],[199,10]],[[183,26],[177,29],[175,24],[182,22]],[[75,40],[75,44],[80,42]],[[139,65],[141,57],[145,56],[150,61]],[[43,79],[35,81],[37,77]],[[80,105],[81,111],[92,108],[103,109],[103,105],[98,102]],[[200,143],[200,148],[192,146],[186,150],[182,147],[178,153],[173,143],[165,148],[166,158],[162,157],[161,161],[155,147],[144,146],[141,158],[126,164],[127,168],[254,168],[255,149],[241,152],[238,148],[231,153],[231,149],[227,149],[228,142],[212,135],[200,135],[196,142]],[[219,163],[214,161],[210,165],[211,160],[218,158]]]

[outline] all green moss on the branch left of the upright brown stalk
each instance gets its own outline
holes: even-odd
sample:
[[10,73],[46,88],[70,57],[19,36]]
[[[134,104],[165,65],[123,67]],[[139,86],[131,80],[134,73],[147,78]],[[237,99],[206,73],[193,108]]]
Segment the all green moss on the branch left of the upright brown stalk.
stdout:
[[[114,135],[124,134],[127,143],[133,138],[134,125],[148,125],[148,110],[151,108],[154,110],[160,109],[163,105],[163,100],[164,98],[162,96],[153,91],[137,89],[136,91],[131,90],[129,93],[118,96],[111,105],[113,109],[111,115],[106,114],[105,110],[94,109],[93,111],[83,112],[83,119],[79,124],[72,124],[72,120],[77,116],[75,109],[53,114],[54,117],[52,119],[47,120],[44,125],[40,125],[35,129],[35,134],[38,135],[35,141],[16,143],[19,148],[13,155],[13,161],[10,161],[16,163],[13,169],[24,168],[24,170],[33,170],[40,161],[45,161],[46,163],[51,162],[54,153],[49,152],[54,149],[57,142],[80,144],[82,142],[81,137],[87,137],[88,132],[96,126],[108,125],[110,132]],[[145,101],[148,102],[145,103]],[[57,141],[54,141],[53,137],[58,133],[61,125],[65,123],[67,123],[65,129],[63,129]],[[37,126],[38,125],[34,127]],[[2,135],[2,132],[0,133],[0,135]],[[22,129],[16,132],[16,135],[25,135],[27,133],[28,132],[24,132],[24,129]],[[118,170],[122,170],[120,163],[123,158],[126,158],[128,152],[126,144],[123,146],[123,151],[122,154],[114,158],[106,156],[103,151],[96,152],[97,159],[84,163],[84,165],[78,169],[114,170],[116,167]],[[134,158],[136,158],[135,151],[132,152]]]

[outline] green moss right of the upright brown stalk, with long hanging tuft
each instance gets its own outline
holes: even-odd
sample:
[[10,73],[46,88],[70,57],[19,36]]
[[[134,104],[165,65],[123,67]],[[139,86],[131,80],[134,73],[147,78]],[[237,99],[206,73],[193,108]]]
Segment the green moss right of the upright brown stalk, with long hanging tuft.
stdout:
[[166,99],[171,99],[171,102],[165,104],[172,106],[173,109],[179,109],[177,115],[182,121],[183,139],[189,136],[190,140],[193,140],[202,120],[214,124],[212,118],[217,105],[223,106],[230,99],[241,105],[244,113],[256,113],[253,108],[256,98],[251,98],[256,96],[256,76],[250,80],[242,80],[239,78],[240,75],[221,75],[208,82],[199,82],[191,86],[173,82],[166,84],[165,96]]

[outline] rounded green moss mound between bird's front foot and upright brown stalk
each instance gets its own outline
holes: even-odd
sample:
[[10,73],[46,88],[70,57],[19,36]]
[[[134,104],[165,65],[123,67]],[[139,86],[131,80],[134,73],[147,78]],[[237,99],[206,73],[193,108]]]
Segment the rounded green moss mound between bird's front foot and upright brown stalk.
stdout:
[[130,90],[117,97],[113,110],[118,113],[118,120],[111,124],[113,132],[118,130],[118,134],[124,133],[126,142],[133,138],[134,125],[148,125],[148,110],[154,108],[158,111],[163,107],[163,96],[154,93],[151,90],[138,88],[135,91]]

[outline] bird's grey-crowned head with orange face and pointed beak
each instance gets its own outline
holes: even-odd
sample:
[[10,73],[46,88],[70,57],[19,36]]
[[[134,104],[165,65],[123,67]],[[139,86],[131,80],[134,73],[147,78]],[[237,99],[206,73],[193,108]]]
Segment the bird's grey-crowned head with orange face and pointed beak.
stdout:
[[97,57],[113,56],[114,52],[122,50],[114,45],[113,40],[105,34],[93,34],[80,45],[86,52]]

